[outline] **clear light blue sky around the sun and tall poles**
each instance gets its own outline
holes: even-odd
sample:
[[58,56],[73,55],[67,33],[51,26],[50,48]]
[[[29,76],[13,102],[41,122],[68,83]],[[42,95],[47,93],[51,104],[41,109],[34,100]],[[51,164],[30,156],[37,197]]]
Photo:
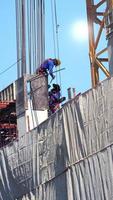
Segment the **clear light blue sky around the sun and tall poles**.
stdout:
[[[46,0],[46,57],[54,57],[50,2]],[[86,20],[86,4],[83,0],[56,2],[57,20],[60,25],[59,55],[61,68],[66,68],[61,72],[62,93],[65,95],[68,87],[75,87],[77,93],[84,92],[91,87],[88,40],[74,39],[71,35],[71,25]],[[15,0],[2,0],[0,2],[0,90],[16,80],[16,66],[1,74],[17,60],[15,23]]]

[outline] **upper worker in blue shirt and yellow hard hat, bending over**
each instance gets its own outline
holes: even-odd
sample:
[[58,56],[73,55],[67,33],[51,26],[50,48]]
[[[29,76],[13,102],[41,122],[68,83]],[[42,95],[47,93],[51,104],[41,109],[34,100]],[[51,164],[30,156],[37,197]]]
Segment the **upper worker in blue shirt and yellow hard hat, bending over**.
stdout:
[[41,65],[40,67],[36,70],[36,74],[45,74],[45,75],[48,75],[50,74],[50,76],[52,77],[52,79],[55,78],[55,75],[53,74],[53,68],[54,66],[58,66],[60,65],[61,62],[59,59],[52,59],[52,58],[49,58],[49,59],[46,59]]

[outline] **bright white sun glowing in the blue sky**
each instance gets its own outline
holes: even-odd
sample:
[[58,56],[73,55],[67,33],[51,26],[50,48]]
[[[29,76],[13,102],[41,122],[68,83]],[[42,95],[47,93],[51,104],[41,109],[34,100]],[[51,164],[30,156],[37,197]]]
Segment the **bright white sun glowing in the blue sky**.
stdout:
[[83,42],[88,39],[88,26],[86,21],[81,20],[71,25],[71,35],[78,42]]

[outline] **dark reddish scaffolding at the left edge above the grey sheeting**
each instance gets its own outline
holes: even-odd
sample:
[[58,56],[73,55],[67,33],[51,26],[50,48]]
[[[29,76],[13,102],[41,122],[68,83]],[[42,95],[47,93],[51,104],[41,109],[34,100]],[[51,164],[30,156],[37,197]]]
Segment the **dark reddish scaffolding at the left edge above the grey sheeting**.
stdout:
[[17,139],[15,101],[0,101],[0,148]]

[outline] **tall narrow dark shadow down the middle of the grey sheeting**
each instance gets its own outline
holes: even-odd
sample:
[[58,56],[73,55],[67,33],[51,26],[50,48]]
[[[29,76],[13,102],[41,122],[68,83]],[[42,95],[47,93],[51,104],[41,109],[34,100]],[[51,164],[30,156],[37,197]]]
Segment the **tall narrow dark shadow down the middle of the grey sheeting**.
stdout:
[[[61,113],[60,113],[61,112]],[[62,115],[62,110],[59,111],[59,115]],[[60,115],[60,116],[61,116]],[[68,152],[66,147],[65,131],[63,125],[63,115],[62,120],[59,120],[60,127],[59,132],[59,143],[56,145],[56,157],[54,161],[55,179],[54,179],[54,190],[56,192],[56,200],[68,199],[67,196],[67,163],[69,162]],[[61,132],[62,129],[62,132]],[[59,134],[60,134],[59,133]]]

